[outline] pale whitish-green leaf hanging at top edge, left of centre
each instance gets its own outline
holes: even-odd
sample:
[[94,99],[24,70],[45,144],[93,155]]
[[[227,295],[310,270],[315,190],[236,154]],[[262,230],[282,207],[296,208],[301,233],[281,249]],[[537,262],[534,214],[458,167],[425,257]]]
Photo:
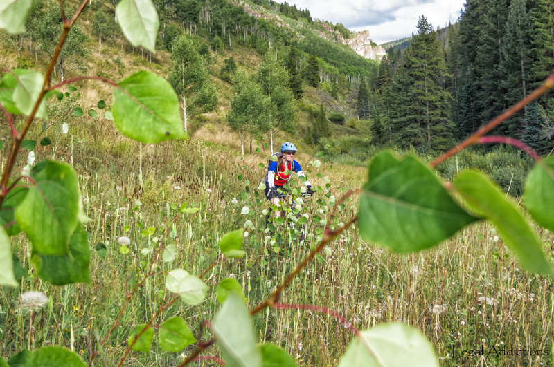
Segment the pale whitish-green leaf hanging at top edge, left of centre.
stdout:
[[143,46],[155,52],[160,22],[150,0],[121,0],[116,6],[116,17],[123,34],[133,46]]

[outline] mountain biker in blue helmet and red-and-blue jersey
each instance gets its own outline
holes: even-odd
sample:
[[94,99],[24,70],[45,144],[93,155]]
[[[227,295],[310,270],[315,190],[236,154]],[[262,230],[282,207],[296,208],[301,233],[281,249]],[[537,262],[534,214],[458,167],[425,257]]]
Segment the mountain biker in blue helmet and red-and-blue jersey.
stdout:
[[[277,154],[278,160],[269,162],[267,167],[267,176],[265,180],[265,197],[271,204],[280,207],[280,199],[288,194],[288,190],[283,187],[285,183],[289,182],[292,178],[292,173],[296,172],[298,176],[306,177],[300,163],[294,160],[294,154],[296,154],[296,146],[292,142],[284,142],[281,145],[281,154]],[[312,185],[308,180],[305,180],[306,193],[313,194]],[[281,211],[276,211],[275,216],[278,218],[281,216]]]

